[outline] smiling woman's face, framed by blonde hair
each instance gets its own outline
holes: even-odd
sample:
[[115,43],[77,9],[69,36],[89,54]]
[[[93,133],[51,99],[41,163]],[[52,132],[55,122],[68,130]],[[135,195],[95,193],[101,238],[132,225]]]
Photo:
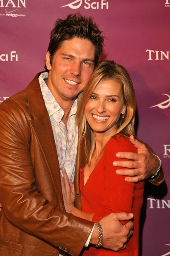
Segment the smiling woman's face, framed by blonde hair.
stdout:
[[120,114],[126,107],[121,85],[111,79],[101,80],[85,105],[85,118],[94,132],[114,134]]

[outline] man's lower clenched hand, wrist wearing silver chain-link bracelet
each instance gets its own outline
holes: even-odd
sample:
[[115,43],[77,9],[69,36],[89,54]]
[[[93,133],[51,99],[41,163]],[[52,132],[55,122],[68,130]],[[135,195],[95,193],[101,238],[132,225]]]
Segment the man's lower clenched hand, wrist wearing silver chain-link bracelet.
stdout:
[[[102,247],[114,251],[125,249],[130,236],[133,234],[133,223],[128,222],[123,225],[120,221],[130,220],[131,218],[133,218],[133,214],[127,212],[111,213],[102,218],[99,221],[103,229]],[[99,232],[95,227],[91,237],[92,244],[98,244],[98,236]]]

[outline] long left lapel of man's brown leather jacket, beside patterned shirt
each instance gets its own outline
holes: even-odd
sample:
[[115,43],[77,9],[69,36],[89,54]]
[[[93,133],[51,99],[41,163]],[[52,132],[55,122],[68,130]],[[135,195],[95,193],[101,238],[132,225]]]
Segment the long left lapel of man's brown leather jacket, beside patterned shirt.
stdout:
[[64,205],[54,134],[48,111],[42,97],[38,76],[39,74],[33,79],[26,89],[28,94],[28,112],[34,118],[30,122],[47,161],[48,169],[54,181],[54,187],[57,192],[58,199],[62,205]]

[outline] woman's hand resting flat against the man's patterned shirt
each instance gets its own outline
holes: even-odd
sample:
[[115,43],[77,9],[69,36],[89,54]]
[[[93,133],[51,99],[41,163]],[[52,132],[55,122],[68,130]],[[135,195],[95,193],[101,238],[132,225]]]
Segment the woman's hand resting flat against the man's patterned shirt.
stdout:
[[65,210],[68,213],[72,213],[72,210],[74,209],[74,201],[75,201],[74,184],[72,180],[69,181],[67,172],[65,171],[64,167],[62,167],[62,175],[61,175],[61,185],[62,185],[62,195],[64,199]]

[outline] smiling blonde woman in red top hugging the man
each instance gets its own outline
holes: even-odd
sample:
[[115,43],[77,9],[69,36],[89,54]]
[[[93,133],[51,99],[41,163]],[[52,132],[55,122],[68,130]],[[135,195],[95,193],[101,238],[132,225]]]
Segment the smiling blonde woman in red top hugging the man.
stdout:
[[79,140],[85,138],[87,159],[84,169],[80,169],[82,211],[74,207],[74,185],[62,170],[66,211],[94,222],[111,212],[133,212],[134,215],[133,237],[125,250],[113,252],[89,246],[82,255],[137,256],[144,183],[127,183],[125,177],[116,175],[112,164],[117,159],[116,152],[137,151],[129,141],[130,135],[135,135],[136,99],[125,68],[114,61],[99,62],[79,96],[77,109]]

